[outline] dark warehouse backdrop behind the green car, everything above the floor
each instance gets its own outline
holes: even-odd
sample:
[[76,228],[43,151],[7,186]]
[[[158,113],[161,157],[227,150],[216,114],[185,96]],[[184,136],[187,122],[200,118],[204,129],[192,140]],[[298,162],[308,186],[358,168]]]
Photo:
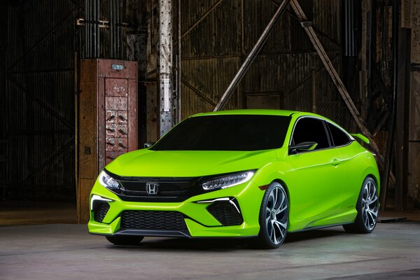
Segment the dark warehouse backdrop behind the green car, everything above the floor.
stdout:
[[[0,227],[84,225],[106,163],[215,109],[319,113],[364,134],[382,213],[420,220],[420,1],[0,6]],[[108,85],[128,92],[113,108],[133,123],[100,118]]]

